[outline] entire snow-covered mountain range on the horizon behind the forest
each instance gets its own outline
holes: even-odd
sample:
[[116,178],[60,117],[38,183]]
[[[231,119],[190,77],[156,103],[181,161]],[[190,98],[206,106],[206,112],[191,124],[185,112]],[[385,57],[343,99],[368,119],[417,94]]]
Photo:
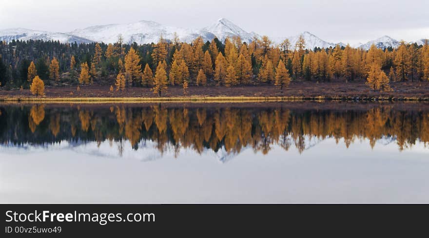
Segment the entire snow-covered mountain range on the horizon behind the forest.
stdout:
[[[15,40],[59,40],[63,43],[89,43],[89,42],[104,42],[114,43],[117,41],[119,34],[124,38],[124,42],[137,44],[156,43],[160,36],[167,40],[173,40],[175,33],[181,41],[192,42],[196,37],[203,37],[204,41],[212,40],[217,37],[220,41],[224,41],[227,37],[239,36],[245,42],[251,42],[253,39],[260,38],[260,35],[254,32],[246,32],[239,26],[235,25],[231,21],[225,18],[220,18],[214,24],[202,29],[187,29],[179,27],[164,26],[155,21],[138,21],[130,24],[110,24],[110,25],[99,25],[91,26],[84,29],[77,29],[69,33],[58,33],[58,32],[46,32],[46,31],[35,31],[24,28],[12,28],[0,30],[0,40],[11,41]],[[344,43],[331,43],[316,37],[310,32],[303,32],[292,37],[284,38],[273,38],[273,42],[276,44],[281,43],[284,39],[288,38],[293,47],[298,39],[302,35],[306,42],[306,48],[313,49],[314,47],[329,48],[335,47],[336,44],[345,46]],[[425,39],[419,39],[415,41],[421,45],[425,43]],[[400,45],[398,40],[391,37],[384,36],[375,40],[370,40],[365,44],[354,45],[354,47],[363,48],[368,50],[371,44],[375,44],[376,47],[385,49],[387,47],[397,48]]]

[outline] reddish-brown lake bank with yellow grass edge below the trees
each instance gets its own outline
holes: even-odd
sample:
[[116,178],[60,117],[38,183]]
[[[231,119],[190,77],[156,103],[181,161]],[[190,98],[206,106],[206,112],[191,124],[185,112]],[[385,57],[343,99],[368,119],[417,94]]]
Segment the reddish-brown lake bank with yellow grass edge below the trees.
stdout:
[[254,102],[254,101],[429,101],[429,82],[391,82],[392,92],[376,92],[364,80],[345,83],[342,79],[316,83],[295,81],[280,92],[274,85],[190,86],[186,95],[181,86],[169,86],[158,97],[150,88],[130,87],[110,92],[108,85],[46,86],[45,96],[36,98],[28,89],[0,90],[1,101],[34,102]]

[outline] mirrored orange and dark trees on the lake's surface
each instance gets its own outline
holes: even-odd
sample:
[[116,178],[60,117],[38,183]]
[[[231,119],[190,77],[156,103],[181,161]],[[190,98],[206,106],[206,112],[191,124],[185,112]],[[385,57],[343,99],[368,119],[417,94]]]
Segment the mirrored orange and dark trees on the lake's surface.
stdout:
[[[429,142],[427,104],[152,104],[0,105],[0,143],[49,145],[109,141],[119,155],[124,143],[137,150],[154,144],[162,154],[181,148],[268,154],[274,145],[302,153],[334,138],[395,142],[399,150]],[[286,153],[286,152],[285,152]]]

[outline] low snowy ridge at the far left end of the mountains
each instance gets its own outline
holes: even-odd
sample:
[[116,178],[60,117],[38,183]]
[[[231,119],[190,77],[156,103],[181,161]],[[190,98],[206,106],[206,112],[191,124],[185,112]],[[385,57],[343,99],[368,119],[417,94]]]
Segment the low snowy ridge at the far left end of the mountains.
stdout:
[[0,40],[11,41],[11,40],[59,40],[60,42],[77,42],[77,43],[90,43],[91,40],[76,37],[66,33],[59,32],[46,32],[46,31],[34,31],[25,28],[11,28],[0,30]]

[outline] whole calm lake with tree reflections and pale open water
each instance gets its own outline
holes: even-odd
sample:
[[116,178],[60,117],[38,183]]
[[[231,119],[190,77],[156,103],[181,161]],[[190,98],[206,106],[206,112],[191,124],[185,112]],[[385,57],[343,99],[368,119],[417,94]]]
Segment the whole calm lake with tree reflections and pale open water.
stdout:
[[0,104],[0,202],[429,202],[429,104]]

